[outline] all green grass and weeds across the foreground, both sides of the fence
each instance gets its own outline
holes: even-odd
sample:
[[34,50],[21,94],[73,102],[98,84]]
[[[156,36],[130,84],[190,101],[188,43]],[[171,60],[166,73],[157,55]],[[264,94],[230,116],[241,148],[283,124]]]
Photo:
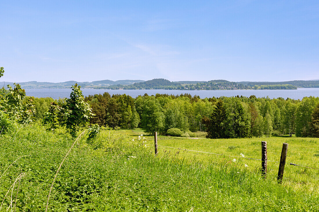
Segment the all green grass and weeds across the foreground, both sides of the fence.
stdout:
[[[232,157],[182,151],[175,155],[162,147],[155,157],[151,145],[133,144],[132,138],[137,140],[137,135],[130,130],[104,130],[93,140],[84,134],[53,181],[74,138],[64,129],[48,132],[41,124],[2,134],[0,211],[45,211],[52,183],[48,211],[319,211],[318,172],[313,170],[288,166],[283,185],[278,185],[273,179],[278,167],[270,162],[269,168],[276,170],[270,169],[265,180],[258,161],[237,158],[239,162],[233,163]],[[151,136],[148,139],[153,142]],[[269,159],[277,155],[272,149],[280,152],[277,143],[290,138],[274,139],[268,140]],[[290,142],[289,147],[301,151],[297,157],[290,148],[290,159],[314,165],[317,158],[306,157],[317,145],[310,140]],[[259,155],[259,141],[159,136],[159,145],[249,157]]]

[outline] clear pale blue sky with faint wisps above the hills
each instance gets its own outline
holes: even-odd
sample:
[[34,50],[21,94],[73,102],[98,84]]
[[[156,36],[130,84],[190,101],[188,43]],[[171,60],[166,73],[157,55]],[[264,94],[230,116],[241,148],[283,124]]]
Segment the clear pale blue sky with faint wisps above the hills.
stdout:
[[319,79],[319,1],[0,1],[2,81]]

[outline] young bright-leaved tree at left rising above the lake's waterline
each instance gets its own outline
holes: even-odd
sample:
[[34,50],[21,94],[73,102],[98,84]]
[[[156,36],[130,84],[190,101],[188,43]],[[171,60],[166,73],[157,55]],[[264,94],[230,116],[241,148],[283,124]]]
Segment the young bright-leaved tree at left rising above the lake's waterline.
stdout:
[[94,114],[90,105],[84,101],[84,96],[80,90],[81,86],[72,86],[70,99],[66,99],[66,121],[65,126],[73,137],[85,125]]

